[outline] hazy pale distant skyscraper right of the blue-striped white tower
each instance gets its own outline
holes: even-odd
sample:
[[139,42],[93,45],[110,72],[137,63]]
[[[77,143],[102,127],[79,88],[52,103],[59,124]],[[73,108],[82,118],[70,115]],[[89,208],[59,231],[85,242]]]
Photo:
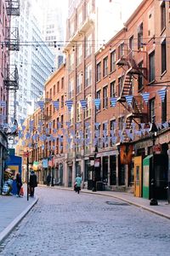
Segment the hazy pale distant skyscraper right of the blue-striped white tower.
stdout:
[[57,2],[37,0],[41,9],[40,19],[42,20],[43,40],[48,43],[54,53],[54,67],[59,68],[64,61],[64,22],[66,21],[64,21],[60,3]]

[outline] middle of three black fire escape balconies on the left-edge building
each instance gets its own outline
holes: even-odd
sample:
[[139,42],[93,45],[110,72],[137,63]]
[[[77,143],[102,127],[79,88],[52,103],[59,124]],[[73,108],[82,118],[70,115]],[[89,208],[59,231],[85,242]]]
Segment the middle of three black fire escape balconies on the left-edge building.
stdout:
[[20,37],[18,27],[6,27],[5,44],[9,50],[20,50]]

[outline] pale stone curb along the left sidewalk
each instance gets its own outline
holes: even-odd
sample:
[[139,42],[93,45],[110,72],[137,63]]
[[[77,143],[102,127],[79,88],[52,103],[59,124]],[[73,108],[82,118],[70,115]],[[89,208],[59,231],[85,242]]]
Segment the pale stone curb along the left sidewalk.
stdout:
[[7,236],[11,233],[12,230],[20,223],[20,221],[25,218],[26,214],[30,212],[31,208],[37,203],[38,198],[31,202],[31,204],[26,207],[26,209],[20,213],[19,216],[14,218],[14,220],[8,224],[8,226],[0,233],[0,245],[7,238]]

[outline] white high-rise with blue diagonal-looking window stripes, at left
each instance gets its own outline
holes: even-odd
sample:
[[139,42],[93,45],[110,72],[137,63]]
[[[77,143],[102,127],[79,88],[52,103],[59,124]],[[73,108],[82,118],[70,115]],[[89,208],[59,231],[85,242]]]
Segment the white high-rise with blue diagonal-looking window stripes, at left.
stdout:
[[19,90],[13,90],[9,98],[9,114],[20,124],[30,110],[37,108],[44,82],[54,69],[54,55],[42,41],[42,34],[35,16],[36,2],[22,0],[20,17],[11,20],[19,28],[20,51],[10,57],[19,71]]

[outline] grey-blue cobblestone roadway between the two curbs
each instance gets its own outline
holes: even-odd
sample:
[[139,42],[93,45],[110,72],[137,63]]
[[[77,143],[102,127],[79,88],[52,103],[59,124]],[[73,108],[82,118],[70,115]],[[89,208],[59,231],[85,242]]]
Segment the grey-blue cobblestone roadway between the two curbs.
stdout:
[[0,255],[170,255],[170,220],[114,198],[37,188]]

